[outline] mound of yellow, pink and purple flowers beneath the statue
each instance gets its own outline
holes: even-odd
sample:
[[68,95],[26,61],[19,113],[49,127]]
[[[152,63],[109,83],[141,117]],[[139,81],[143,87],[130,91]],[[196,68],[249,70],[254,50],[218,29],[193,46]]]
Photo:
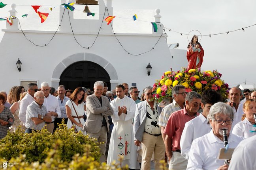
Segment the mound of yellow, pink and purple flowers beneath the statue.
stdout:
[[167,71],[162,75],[161,79],[157,79],[153,85],[153,96],[161,102],[164,98],[171,97],[171,89],[175,85],[183,85],[186,92],[195,91],[202,94],[204,90],[213,89],[220,92],[223,101],[228,99],[228,92],[230,88],[227,83],[224,83],[221,74],[217,70],[201,71],[200,69],[187,70],[183,68],[182,71]]

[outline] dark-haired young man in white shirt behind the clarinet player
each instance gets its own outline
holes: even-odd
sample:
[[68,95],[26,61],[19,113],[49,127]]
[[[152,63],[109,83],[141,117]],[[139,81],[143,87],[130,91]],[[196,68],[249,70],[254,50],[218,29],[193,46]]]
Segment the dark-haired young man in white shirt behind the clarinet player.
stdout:
[[210,108],[217,102],[222,102],[222,96],[215,90],[208,89],[202,93],[201,108],[203,112],[196,118],[186,122],[181,135],[181,156],[188,159],[189,151],[193,140],[202,137],[211,131],[207,116]]

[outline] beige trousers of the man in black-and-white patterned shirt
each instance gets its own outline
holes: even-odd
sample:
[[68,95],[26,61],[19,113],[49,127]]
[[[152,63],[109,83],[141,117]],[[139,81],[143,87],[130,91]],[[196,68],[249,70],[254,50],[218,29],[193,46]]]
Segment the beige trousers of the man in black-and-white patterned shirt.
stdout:
[[161,170],[160,161],[164,160],[165,146],[162,135],[154,136],[143,133],[141,141],[141,170],[150,170],[150,161],[154,152],[155,170]]

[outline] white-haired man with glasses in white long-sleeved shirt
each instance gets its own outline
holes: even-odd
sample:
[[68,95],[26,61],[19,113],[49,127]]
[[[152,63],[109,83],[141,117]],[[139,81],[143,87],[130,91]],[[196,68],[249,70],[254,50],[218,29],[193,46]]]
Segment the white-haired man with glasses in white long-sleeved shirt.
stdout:
[[45,96],[43,105],[45,105],[47,111],[51,114],[52,121],[46,122],[46,128],[50,133],[53,133],[54,129],[54,120],[56,117],[61,117],[60,106],[58,104],[58,99],[50,94],[51,87],[49,84],[44,81],[41,83],[41,91]]

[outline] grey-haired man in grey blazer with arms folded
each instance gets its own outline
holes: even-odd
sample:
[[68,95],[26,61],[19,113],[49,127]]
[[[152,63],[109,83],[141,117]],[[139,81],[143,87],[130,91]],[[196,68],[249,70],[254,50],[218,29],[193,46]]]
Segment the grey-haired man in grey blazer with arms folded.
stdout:
[[105,162],[105,147],[107,142],[107,132],[109,132],[109,123],[107,116],[113,115],[113,109],[106,96],[102,96],[104,83],[96,81],[94,83],[94,94],[86,98],[87,120],[84,131],[90,137],[94,137],[98,142],[104,142],[100,145],[100,162]]

